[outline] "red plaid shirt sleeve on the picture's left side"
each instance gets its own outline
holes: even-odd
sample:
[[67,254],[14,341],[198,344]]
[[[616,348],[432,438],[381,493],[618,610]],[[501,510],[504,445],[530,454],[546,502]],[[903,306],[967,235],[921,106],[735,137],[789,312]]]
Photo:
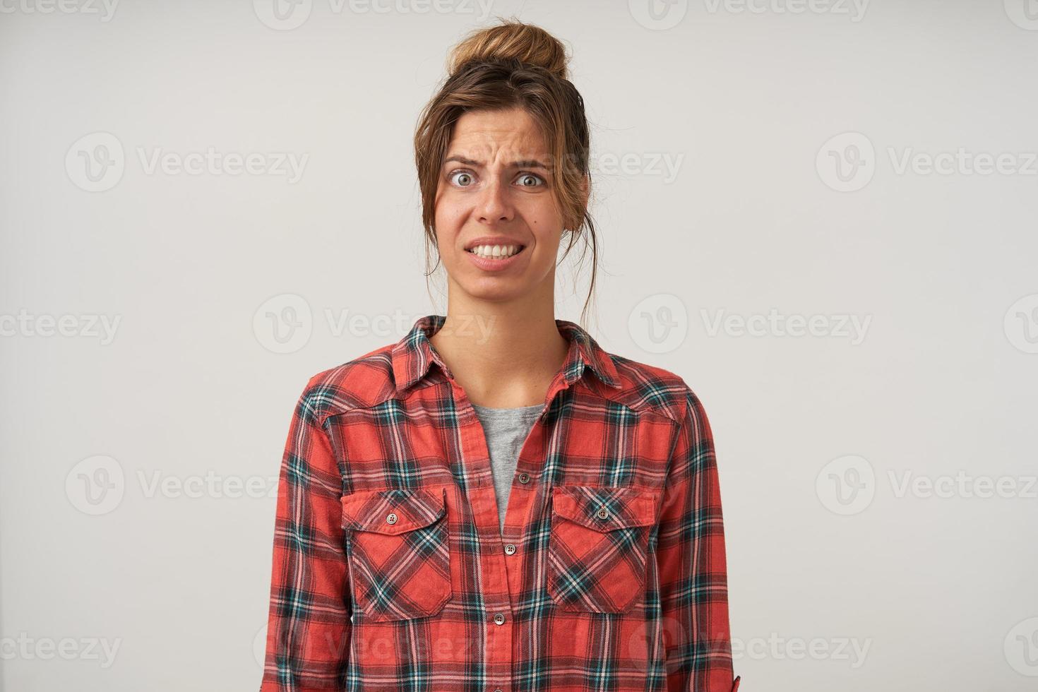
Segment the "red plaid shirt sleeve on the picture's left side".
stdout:
[[281,460],[261,692],[342,690],[350,652],[342,476],[313,379]]

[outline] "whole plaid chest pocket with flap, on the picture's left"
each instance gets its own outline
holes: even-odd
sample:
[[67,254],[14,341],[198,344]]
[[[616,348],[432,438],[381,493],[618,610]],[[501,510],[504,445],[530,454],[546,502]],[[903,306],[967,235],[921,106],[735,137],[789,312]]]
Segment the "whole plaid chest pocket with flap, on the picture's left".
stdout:
[[446,489],[342,498],[355,610],[370,620],[435,615],[452,597]]

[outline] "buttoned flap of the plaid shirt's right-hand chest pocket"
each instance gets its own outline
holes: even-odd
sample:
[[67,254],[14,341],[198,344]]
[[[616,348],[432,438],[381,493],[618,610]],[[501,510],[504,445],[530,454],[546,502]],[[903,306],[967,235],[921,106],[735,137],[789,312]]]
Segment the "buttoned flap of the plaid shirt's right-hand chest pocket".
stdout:
[[649,526],[656,521],[658,493],[635,488],[556,486],[552,511],[597,531]]

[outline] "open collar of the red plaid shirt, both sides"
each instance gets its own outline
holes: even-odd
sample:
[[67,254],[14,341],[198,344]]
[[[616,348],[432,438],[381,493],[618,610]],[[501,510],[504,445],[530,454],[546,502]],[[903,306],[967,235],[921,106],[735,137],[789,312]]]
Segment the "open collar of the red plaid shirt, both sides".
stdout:
[[[433,363],[439,365],[446,375],[450,375],[450,369],[429,340],[445,321],[446,315],[443,314],[427,314],[418,317],[411,331],[392,347],[392,373],[397,391],[404,391],[426,377]],[[588,367],[604,384],[613,388],[621,386],[612,357],[592,338],[591,334],[580,325],[568,320],[555,320],[555,326],[558,333],[570,343],[562,370],[567,385],[579,380]]]

